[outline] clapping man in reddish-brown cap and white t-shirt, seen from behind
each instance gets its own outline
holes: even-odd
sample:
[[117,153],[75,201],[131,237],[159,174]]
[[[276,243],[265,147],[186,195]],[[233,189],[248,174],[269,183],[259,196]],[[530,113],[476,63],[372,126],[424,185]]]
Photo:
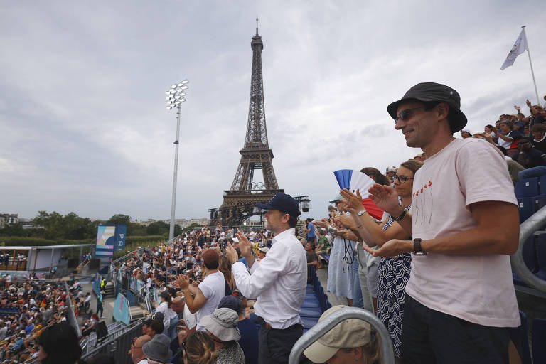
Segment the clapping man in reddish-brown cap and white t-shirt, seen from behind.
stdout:
[[176,278],[176,284],[180,287],[186,298],[186,306],[192,314],[197,314],[197,330],[204,330],[200,324],[203,316],[212,314],[218,307],[220,299],[225,292],[225,278],[219,267],[218,251],[206,249],[203,252],[203,264],[205,265],[205,279],[197,287],[190,284],[189,278],[183,274]]

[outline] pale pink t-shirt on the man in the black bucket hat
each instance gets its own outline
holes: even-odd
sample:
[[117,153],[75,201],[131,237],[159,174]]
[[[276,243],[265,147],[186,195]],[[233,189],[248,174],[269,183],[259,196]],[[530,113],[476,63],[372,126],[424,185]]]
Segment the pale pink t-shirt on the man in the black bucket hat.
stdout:
[[[413,194],[412,238],[422,240],[476,227],[472,203],[517,205],[501,151],[473,138],[454,139],[424,161]],[[414,255],[406,293],[430,309],[483,326],[520,325],[508,255]]]

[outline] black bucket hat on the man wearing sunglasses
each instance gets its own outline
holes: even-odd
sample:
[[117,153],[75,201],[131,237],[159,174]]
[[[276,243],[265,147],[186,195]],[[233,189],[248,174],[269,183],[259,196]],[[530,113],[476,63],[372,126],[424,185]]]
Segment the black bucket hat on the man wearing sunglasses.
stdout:
[[466,125],[466,116],[461,112],[461,97],[449,86],[436,82],[422,82],[410,88],[398,101],[387,106],[387,112],[396,120],[398,105],[406,100],[419,100],[423,102],[441,101],[449,105],[449,127],[451,132],[459,132]]

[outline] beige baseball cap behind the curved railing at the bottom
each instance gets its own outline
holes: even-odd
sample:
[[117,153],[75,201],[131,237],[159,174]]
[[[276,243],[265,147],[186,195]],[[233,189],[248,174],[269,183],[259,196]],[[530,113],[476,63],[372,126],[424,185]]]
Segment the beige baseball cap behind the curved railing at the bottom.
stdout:
[[[333,306],[324,311],[319,322],[329,314],[347,306]],[[343,320],[325,333],[319,340],[304,350],[304,354],[314,363],[326,363],[340,348],[358,348],[370,342],[370,324],[360,319]]]

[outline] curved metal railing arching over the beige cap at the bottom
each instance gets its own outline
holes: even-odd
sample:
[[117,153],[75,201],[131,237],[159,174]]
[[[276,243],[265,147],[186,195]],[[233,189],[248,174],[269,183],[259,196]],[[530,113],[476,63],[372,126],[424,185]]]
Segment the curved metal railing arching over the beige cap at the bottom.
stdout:
[[315,326],[304,333],[301,338],[294,344],[294,347],[290,351],[289,364],[299,363],[299,358],[304,350],[308,348],[312,343],[319,340],[321,336],[330,331],[334,326],[346,319],[360,319],[370,323],[379,334],[380,346],[381,346],[381,360],[385,364],[395,364],[395,351],[392,348],[392,339],[390,338],[385,324],[380,321],[373,313],[366,311],[365,309],[358,309],[356,307],[346,307],[328,315],[325,319],[317,323]]

